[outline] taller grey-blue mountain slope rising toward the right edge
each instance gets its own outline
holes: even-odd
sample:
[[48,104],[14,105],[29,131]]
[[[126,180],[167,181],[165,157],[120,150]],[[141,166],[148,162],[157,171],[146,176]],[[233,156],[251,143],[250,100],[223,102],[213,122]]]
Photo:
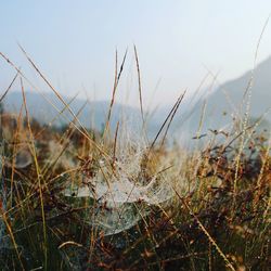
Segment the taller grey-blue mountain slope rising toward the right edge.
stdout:
[[[222,128],[232,122],[233,115],[236,115],[238,112],[244,114],[247,100],[243,103],[242,111],[241,106],[250,78],[251,72],[246,72],[241,77],[224,82],[210,94],[201,99],[195,105],[195,112],[190,120],[194,126],[193,129],[196,129],[198,126],[204,100],[207,102],[204,130]],[[271,57],[256,67],[250,90],[249,116],[250,119],[255,120],[271,108]],[[271,127],[271,111],[264,115],[262,127]]]

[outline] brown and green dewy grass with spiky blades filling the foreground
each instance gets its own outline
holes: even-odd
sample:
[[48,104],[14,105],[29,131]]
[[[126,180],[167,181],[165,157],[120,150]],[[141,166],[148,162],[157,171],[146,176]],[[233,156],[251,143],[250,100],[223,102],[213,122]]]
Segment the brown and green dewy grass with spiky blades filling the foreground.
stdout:
[[[74,121],[60,130],[31,119],[24,95],[24,82],[29,80],[1,53],[16,76],[0,101],[17,78],[24,96],[17,116],[4,111],[0,116],[1,270],[269,269],[270,136],[258,132],[257,121],[249,124],[247,112],[238,122],[240,130],[222,134],[209,131],[204,146],[185,152],[177,145],[167,146],[165,141],[182,102],[181,94],[165,116],[157,137],[146,141],[147,119],[134,47],[143,122],[142,134],[136,139],[141,140],[136,141],[121,125],[113,132],[109,126],[126,54],[118,70],[116,53],[105,130],[90,131],[78,120],[80,111],[72,112],[23,52],[63,102],[52,122],[64,117],[65,109]],[[201,138],[203,121],[204,117],[195,142]],[[95,194],[94,180],[102,180],[111,189],[121,180],[134,186],[121,205],[113,196],[113,201],[67,196],[67,188],[80,185]],[[130,203],[139,188],[152,188],[153,194]],[[130,220],[133,222],[125,228]],[[113,234],[114,224],[124,230]]]

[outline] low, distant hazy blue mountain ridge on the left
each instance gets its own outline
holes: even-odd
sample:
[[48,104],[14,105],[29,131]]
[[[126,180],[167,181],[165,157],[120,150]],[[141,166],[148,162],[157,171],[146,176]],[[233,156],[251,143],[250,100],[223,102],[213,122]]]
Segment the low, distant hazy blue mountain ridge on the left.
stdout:
[[[46,96],[46,98],[44,98]],[[77,114],[80,122],[91,129],[102,130],[107,119],[109,102],[106,101],[95,101],[88,102],[86,104],[86,100],[83,99],[68,99],[63,96],[63,100],[69,104],[69,108]],[[9,93],[3,101],[4,109],[10,113],[17,113],[23,105],[23,98],[21,92],[11,92]],[[57,115],[57,119],[54,120],[53,125],[63,126],[67,125],[69,121],[74,119],[73,115],[66,108],[60,116],[55,107],[59,111],[65,108],[65,105],[53,94],[53,93],[35,93],[35,92],[26,92],[26,104],[29,115],[35,117],[41,124],[49,124],[54,119]],[[54,106],[52,105],[54,104]],[[112,109],[111,116],[111,128],[113,130],[116,129],[117,122],[125,120],[127,128],[133,132],[140,130],[142,128],[140,109],[137,107],[122,105],[115,103]],[[149,125],[149,136],[153,137],[155,132],[158,130],[158,124],[155,121],[151,121]]]

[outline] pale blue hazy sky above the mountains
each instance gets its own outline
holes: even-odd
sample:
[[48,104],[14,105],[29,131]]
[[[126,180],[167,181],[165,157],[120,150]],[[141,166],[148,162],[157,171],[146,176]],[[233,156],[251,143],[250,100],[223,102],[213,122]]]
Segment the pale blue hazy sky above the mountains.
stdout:
[[[117,96],[137,101],[133,43],[138,47],[145,103],[171,103],[192,92],[206,67],[224,81],[253,66],[254,52],[271,12],[267,0],[24,0],[0,2],[0,51],[41,89],[17,41],[66,95],[80,91],[109,99],[115,50],[128,60]],[[271,22],[259,61],[271,54]],[[0,62],[0,93],[14,76]],[[156,89],[156,91],[155,91]]]

